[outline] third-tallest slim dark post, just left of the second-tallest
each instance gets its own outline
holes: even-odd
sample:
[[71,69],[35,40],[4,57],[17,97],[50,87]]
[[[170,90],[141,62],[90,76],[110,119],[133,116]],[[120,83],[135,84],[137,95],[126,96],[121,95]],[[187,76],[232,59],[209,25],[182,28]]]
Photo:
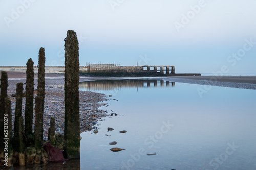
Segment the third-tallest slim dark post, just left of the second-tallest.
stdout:
[[[31,137],[33,129],[33,99],[34,99],[34,62],[30,58],[27,62],[26,106],[25,106],[25,134]],[[30,141],[31,142],[31,141]],[[32,143],[27,143],[28,145]]]

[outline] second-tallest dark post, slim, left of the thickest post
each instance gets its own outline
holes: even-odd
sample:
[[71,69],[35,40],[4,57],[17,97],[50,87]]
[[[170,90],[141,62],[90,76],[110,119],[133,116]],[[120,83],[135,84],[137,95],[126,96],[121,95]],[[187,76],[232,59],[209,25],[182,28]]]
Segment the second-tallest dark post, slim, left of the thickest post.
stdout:
[[44,135],[45,106],[45,48],[40,48],[38,55],[37,96],[35,98],[35,163],[41,160],[41,142]]

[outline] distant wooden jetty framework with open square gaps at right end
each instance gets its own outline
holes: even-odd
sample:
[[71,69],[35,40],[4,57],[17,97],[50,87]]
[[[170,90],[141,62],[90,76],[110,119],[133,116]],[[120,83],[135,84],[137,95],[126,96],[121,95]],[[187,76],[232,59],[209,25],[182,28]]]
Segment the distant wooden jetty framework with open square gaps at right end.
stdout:
[[175,66],[121,66],[120,64],[89,64],[88,72],[159,72],[160,74],[169,75],[175,74]]

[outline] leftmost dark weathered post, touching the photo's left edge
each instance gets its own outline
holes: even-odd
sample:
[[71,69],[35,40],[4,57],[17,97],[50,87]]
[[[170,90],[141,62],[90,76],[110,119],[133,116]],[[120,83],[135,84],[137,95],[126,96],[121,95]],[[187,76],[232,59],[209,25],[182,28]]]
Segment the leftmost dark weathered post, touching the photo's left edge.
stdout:
[[[0,94],[0,150],[4,151],[4,115],[5,115],[5,98],[7,98],[8,75],[6,71],[2,71],[1,77],[1,94]],[[0,152],[1,152],[0,151]]]

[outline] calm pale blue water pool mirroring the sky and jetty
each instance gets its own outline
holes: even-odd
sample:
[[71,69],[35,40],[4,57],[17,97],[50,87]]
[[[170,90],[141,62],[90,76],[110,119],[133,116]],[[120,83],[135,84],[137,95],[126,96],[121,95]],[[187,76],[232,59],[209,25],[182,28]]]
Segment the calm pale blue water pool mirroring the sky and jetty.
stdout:
[[80,90],[112,95],[102,109],[118,114],[99,121],[97,134],[81,134],[80,168],[256,169],[256,90],[215,86],[200,98],[200,87],[136,79],[80,83]]

